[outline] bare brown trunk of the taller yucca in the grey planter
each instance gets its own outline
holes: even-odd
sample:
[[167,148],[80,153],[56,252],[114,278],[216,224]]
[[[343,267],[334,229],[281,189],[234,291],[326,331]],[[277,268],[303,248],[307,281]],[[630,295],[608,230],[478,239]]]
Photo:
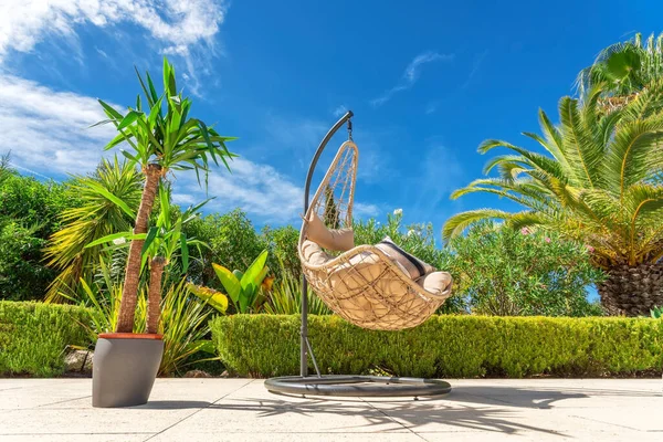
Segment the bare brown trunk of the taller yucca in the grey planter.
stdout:
[[[145,169],[145,187],[140,197],[140,206],[136,214],[134,233],[147,233],[149,215],[155,204],[155,198],[161,178],[161,166],[147,165]],[[117,333],[131,333],[134,330],[134,316],[136,314],[136,302],[138,298],[138,284],[140,283],[140,255],[145,240],[131,240],[129,255],[127,257],[127,270],[125,285],[122,291],[122,303],[117,318]]]

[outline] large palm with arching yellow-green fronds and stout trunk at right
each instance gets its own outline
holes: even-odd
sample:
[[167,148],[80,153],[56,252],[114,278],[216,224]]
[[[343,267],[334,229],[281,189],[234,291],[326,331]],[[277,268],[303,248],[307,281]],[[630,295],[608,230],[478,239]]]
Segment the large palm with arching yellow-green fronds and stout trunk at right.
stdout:
[[642,90],[627,105],[603,114],[603,90],[594,87],[582,104],[564,97],[560,125],[540,110],[543,136],[526,133],[547,155],[506,141],[487,140],[482,154],[503,146],[509,155],[493,158],[487,175],[456,190],[494,193],[525,207],[509,213],[481,209],[459,213],[446,221],[443,236],[460,234],[483,219],[503,219],[516,229],[539,225],[582,241],[592,262],[608,280],[599,294],[609,312],[648,313],[663,304],[663,187],[652,177],[663,166],[663,82]]

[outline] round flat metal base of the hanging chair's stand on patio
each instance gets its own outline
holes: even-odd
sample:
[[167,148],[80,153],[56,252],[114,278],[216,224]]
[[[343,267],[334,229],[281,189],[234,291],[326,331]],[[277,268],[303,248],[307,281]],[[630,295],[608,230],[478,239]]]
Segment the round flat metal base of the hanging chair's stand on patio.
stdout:
[[440,379],[382,376],[284,376],[265,380],[271,392],[339,397],[429,397],[448,394],[451,386]]

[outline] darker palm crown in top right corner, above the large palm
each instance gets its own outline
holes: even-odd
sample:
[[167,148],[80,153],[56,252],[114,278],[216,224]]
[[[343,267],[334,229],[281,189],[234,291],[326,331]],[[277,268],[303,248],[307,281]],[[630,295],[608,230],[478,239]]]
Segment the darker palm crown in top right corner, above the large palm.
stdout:
[[663,77],[663,33],[651,34],[645,43],[638,33],[629,41],[602,50],[591,66],[583,69],[576,85],[580,96],[596,85],[604,84],[602,104],[620,106],[652,81]]

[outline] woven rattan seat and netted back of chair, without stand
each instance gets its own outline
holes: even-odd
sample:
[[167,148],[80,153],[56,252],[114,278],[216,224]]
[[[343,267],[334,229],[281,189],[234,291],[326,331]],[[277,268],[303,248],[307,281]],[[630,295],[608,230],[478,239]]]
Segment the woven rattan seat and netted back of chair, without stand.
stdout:
[[449,297],[427,292],[381,250],[359,245],[335,256],[306,239],[315,212],[330,229],[352,227],[352,200],[359,151],[344,143],[304,217],[298,253],[314,292],[337,315],[362,328],[398,330],[415,327]]

